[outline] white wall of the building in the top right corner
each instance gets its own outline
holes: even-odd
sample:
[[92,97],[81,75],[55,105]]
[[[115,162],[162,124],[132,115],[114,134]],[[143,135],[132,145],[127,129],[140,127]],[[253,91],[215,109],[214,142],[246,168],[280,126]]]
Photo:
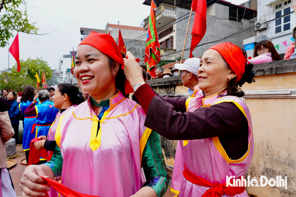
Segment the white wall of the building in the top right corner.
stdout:
[[[257,21],[261,20],[266,20],[269,21],[271,19],[275,18],[275,13],[278,12],[279,10],[282,10],[282,15],[283,15],[283,10],[285,8],[289,8],[290,6],[293,5],[293,1],[291,3],[287,4],[284,6],[284,2],[287,2],[286,0],[278,1],[274,5],[267,6],[271,2],[274,2],[274,0],[257,0]],[[282,7],[279,9],[275,9],[275,6],[282,3]],[[290,12],[293,11],[292,8],[290,8]],[[270,39],[272,39],[272,43],[274,46],[279,44],[279,50],[278,53],[282,54],[285,53],[288,46],[293,42],[290,38],[292,37],[292,30],[296,26],[296,18],[295,14],[292,13],[290,14],[290,30],[283,31],[283,22],[284,19],[282,18],[282,32],[280,33],[275,33],[275,21],[270,22],[267,24],[267,29],[266,30],[261,30],[257,34],[261,35],[266,35]],[[287,46],[284,46],[282,42],[287,40]]]

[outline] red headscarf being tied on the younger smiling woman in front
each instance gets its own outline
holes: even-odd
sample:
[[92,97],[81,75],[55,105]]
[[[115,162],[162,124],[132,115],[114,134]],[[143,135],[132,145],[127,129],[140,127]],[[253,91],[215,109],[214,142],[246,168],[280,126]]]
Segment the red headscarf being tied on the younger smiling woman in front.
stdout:
[[123,65],[121,52],[111,35],[92,31],[79,45],[81,44],[90,45]]

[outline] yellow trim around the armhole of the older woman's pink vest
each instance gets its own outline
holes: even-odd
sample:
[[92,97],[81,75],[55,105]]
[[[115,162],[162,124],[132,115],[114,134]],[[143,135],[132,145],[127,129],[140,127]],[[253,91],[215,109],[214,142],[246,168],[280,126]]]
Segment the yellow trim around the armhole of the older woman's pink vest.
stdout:
[[[217,102],[215,104],[223,103],[223,102],[232,102],[232,103],[234,103],[236,105],[236,107],[238,107],[241,110],[241,112],[243,112],[246,119],[248,120],[249,127],[251,128],[250,122],[249,122],[248,117],[246,116],[245,110],[243,109],[243,107],[241,107],[240,104],[236,103],[233,100],[221,100],[221,101],[219,101],[219,102]],[[217,150],[219,151],[219,153],[222,155],[222,157],[225,159],[225,161],[227,163],[240,163],[240,162],[244,161],[246,159],[246,157],[248,156],[248,154],[249,154],[252,137],[253,137],[253,131],[251,130],[251,138],[250,138],[250,141],[249,141],[248,151],[245,153],[244,156],[241,157],[241,159],[237,159],[237,160],[232,160],[231,158],[228,157],[226,151],[224,150],[224,148],[222,147],[222,144],[220,143],[219,137],[213,137],[212,140],[213,140]]]

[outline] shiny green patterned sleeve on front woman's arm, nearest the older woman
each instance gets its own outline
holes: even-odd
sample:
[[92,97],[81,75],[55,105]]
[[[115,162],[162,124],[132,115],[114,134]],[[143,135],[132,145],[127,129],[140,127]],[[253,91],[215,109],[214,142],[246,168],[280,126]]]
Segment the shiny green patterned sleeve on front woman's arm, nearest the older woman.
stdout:
[[163,196],[169,184],[167,166],[162,154],[160,136],[152,131],[142,155],[142,166],[146,182],[142,187],[154,189],[158,197]]

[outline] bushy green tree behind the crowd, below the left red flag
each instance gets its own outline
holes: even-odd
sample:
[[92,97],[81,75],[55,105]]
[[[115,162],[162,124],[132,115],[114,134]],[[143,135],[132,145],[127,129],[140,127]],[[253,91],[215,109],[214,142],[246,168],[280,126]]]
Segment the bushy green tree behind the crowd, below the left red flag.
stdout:
[[43,70],[46,73],[46,80],[50,80],[52,76],[52,70],[48,66],[48,63],[42,58],[31,59],[28,58],[26,61],[20,60],[21,70],[17,72],[17,64],[15,64],[10,72],[3,70],[0,75],[0,89],[9,88],[14,91],[23,91],[23,89],[30,85],[36,88],[37,79],[35,77],[36,72],[40,69],[40,86],[42,87],[41,80]]

